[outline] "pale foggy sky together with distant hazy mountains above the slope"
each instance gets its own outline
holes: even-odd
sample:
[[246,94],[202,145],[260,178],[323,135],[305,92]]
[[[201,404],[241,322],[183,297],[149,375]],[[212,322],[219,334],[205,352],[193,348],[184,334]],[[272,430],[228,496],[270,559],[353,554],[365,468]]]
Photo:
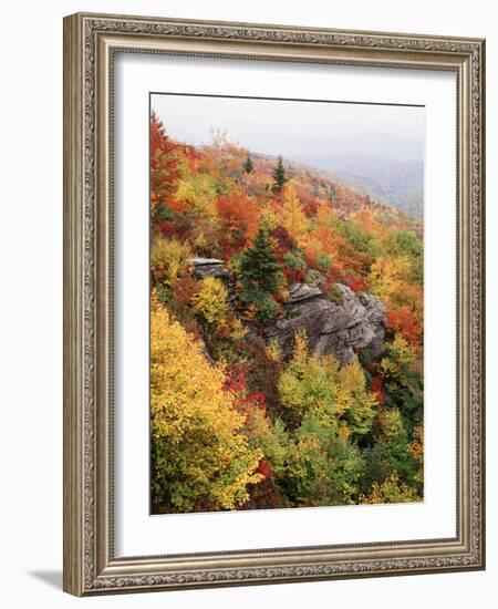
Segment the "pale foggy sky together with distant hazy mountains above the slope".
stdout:
[[253,153],[326,172],[378,203],[424,214],[425,113],[418,106],[155,94],[168,134],[194,146],[215,132]]

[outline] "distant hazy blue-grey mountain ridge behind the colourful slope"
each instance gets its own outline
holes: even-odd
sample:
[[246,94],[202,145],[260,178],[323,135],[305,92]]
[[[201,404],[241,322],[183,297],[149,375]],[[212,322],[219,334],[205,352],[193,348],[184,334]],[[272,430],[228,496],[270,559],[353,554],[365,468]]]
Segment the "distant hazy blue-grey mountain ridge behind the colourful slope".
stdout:
[[330,173],[360,188],[373,199],[422,218],[424,216],[424,164],[369,154],[330,156],[299,154],[295,161]]

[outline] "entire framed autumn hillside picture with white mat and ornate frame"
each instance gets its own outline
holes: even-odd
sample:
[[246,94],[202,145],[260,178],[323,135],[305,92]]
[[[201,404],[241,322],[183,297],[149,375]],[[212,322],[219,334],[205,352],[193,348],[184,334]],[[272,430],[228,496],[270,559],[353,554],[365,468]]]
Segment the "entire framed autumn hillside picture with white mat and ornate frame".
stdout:
[[485,567],[478,39],[64,19],[64,589]]

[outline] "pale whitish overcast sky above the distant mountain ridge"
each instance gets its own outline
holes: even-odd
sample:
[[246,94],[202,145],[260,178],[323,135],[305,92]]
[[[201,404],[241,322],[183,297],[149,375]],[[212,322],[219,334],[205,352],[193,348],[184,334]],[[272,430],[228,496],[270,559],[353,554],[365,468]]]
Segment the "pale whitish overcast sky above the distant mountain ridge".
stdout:
[[369,154],[423,161],[424,109],[376,104],[243,100],[154,94],[152,109],[167,133],[208,144],[214,128],[255,153],[343,156]]

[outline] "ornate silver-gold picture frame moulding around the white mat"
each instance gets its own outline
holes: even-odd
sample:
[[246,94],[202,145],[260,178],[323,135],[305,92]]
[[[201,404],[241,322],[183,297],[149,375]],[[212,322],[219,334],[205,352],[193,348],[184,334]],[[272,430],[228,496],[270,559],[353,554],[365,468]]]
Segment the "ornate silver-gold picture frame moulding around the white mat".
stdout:
[[[115,558],[113,53],[450,70],[458,100],[458,463],[452,539]],[[104,14],[64,19],[64,590],[77,596],[485,568],[485,42]]]

